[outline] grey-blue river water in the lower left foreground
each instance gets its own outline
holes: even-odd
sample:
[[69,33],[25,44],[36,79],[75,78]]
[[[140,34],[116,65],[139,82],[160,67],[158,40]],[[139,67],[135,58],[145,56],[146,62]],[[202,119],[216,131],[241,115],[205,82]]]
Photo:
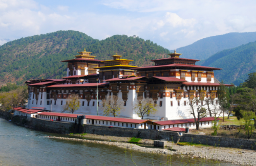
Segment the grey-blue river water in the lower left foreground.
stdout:
[[[49,135],[67,136],[16,126],[0,118],[0,165],[166,165],[170,157],[137,151],[127,151],[125,156],[122,148],[49,139]],[[172,156],[168,165],[231,164]]]

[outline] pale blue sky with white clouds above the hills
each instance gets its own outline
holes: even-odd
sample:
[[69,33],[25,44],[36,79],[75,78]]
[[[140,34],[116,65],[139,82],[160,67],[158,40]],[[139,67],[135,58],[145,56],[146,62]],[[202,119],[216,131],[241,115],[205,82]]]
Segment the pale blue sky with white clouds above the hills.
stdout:
[[256,1],[0,0],[0,45],[59,30],[95,39],[139,36],[174,50],[230,32],[256,31]]

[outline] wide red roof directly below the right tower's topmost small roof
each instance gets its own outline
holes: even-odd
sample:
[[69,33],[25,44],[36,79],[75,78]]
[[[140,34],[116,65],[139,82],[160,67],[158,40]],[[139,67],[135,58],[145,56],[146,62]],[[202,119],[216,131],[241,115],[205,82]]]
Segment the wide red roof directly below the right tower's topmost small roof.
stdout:
[[157,66],[146,66],[146,67],[137,67],[131,69],[146,69],[146,68],[157,68],[157,67],[190,67],[190,68],[207,68],[212,70],[221,70],[222,68],[216,67],[207,67],[207,66],[199,66],[199,65],[189,65],[189,64],[166,64],[166,65],[157,65]]

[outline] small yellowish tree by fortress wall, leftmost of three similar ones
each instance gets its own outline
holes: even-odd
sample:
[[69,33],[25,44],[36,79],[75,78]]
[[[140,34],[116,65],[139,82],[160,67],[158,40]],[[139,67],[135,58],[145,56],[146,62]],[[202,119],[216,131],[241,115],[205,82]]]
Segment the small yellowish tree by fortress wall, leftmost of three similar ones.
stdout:
[[80,98],[78,94],[70,94],[67,98],[66,105],[64,105],[64,109],[62,112],[68,111],[74,113],[76,110],[80,108]]

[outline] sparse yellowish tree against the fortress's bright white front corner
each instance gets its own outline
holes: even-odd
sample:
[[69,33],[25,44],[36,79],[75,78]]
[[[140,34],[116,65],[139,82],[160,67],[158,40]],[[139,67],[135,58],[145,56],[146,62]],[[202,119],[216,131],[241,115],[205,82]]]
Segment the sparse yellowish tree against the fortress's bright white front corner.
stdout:
[[154,100],[151,98],[136,99],[133,107],[142,120],[145,114],[155,114],[158,111],[157,105],[154,104]]

